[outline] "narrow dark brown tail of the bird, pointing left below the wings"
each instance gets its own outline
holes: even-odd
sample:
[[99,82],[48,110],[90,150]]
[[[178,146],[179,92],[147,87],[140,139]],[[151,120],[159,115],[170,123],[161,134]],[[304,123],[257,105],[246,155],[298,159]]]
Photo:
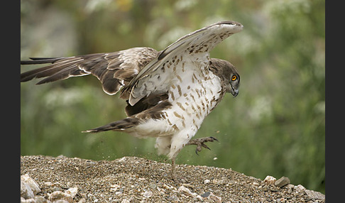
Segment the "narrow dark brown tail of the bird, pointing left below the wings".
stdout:
[[131,128],[133,126],[137,126],[139,124],[139,119],[128,117],[121,121],[115,121],[110,124],[106,124],[104,126],[100,126],[98,128],[93,128],[87,131],[82,131],[82,133],[98,133],[102,131],[123,131],[127,128]]

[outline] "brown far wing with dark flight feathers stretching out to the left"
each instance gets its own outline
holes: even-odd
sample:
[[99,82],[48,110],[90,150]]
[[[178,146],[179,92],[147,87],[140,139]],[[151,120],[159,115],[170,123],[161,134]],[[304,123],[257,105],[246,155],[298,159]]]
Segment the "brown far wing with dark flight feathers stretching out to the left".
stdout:
[[21,82],[45,77],[37,83],[44,84],[69,77],[94,75],[102,83],[104,92],[112,95],[128,84],[157,55],[158,52],[153,48],[130,48],[114,53],[74,57],[32,57],[31,60],[21,61],[21,64],[52,64],[23,72]]

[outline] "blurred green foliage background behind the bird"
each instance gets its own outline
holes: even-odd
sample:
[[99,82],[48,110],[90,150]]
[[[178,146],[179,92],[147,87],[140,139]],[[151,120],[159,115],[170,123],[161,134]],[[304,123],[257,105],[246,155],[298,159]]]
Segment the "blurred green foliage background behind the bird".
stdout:
[[[284,175],[324,192],[324,6],[322,0],[21,1],[21,59],[162,50],[203,26],[239,21],[243,31],[211,56],[236,65],[240,94],[227,95],[196,135],[219,143],[199,155],[187,146],[177,163],[232,168],[262,180]],[[21,155],[168,161],[156,155],[153,138],[81,133],[125,116],[125,102],[104,94],[96,78],[35,82],[21,84]]]

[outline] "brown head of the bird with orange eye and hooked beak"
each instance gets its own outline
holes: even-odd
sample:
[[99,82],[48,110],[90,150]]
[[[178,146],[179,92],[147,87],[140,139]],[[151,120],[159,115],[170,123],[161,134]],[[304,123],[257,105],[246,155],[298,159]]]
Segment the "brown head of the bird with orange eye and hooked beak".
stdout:
[[230,92],[234,97],[239,94],[240,77],[234,65],[226,60],[212,58],[209,67],[221,79],[221,83],[226,92]]

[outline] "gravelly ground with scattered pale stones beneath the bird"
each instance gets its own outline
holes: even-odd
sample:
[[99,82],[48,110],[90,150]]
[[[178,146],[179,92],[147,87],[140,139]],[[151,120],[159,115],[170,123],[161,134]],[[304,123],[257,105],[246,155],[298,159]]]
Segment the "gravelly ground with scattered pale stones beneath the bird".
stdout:
[[287,177],[260,180],[230,169],[136,157],[84,160],[21,156],[21,202],[325,202]]

